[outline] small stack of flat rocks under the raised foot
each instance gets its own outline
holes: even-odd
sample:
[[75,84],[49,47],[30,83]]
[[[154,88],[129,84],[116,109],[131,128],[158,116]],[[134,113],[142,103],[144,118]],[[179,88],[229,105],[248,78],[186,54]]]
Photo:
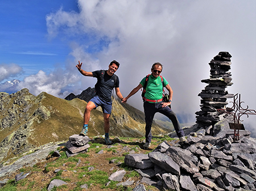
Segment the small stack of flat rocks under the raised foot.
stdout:
[[77,155],[82,152],[86,152],[90,145],[88,144],[90,138],[88,136],[72,135],[69,137],[69,141],[66,143],[68,151],[66,154],[68,157]]

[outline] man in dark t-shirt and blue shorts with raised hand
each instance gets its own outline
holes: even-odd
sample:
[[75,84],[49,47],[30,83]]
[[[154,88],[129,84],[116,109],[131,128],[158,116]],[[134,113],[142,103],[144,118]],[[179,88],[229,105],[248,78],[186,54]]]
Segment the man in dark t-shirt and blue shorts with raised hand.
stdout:
[[112,90],[115,88],[115,93],[117,97],[123,100],[123,96],[119,90],[119,78],[115,75],[115,71],[117,71],[119,67],[119,62],[113,60],[109,64],[108,70],[97,70],[93,72],[82,70],[82,62],[76,65],[77,69],[80,71],[82,75],[86,77],[94,77],[97,78],[96,83],[96,96],[94,96],[88,104],[86,105],[84,112],[84,126],[82,127],[82,131],[80,135],[86,136],[88,133],[88,122],[90,119],[90,111],[92,109],[101,106],[103,116],[104,116],[104,130],[105,130],[105,141],[106,145],[110,145],[112,142],[109,140],[109,117],[112,111]]

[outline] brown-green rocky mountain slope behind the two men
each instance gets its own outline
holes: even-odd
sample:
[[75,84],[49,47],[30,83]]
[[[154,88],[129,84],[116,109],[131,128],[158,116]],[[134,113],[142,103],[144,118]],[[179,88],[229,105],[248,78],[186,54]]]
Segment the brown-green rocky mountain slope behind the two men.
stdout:
[[[84,100],[76,98],[68,101],[46,92],[34,96],[26,88],[10,95],[0,92],[0,162],[49,142],[65,141],[72,134],[79,134],[85,106]],[[131,114],[129,109],[113,100],[110,135],[143,137],[143,113],[137,109],[134,109],[134,112],[137,114]],[[167,129],[153,125],[153,134],[167,132]],[[91,113],[88,135],[104,135],[101,108]]]

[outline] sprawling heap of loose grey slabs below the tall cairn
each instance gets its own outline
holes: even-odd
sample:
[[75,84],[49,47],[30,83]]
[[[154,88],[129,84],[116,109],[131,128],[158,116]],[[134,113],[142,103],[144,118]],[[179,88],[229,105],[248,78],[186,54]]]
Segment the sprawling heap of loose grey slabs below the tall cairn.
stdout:
[[216,137],[201,128],[188,135],[187,148],[164,141],[149,154],[126,155],[125,164],[141,174],[141,183],[159,190],[256,190],[256,141],[250,136],[233,141],[223,133],[229,130],[227,118],[215,125],[221,129]]

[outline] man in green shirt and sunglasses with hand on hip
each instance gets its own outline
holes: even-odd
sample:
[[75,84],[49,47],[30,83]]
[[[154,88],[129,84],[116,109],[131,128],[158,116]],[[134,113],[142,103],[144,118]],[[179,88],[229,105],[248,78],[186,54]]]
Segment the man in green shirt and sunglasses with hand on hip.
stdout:
[[[152,121],[154,118],[155,113],[159,112],[170,118],[172,124],[174,124],[174,129],[176,131],[177,136],[180,138],[181,143],[188,143],[187,139],[185,138],[185,134],[182,128],[180,128],[180,123],[177,120],[176,114],[172,111],[171,105],[172,102],[172,88],[167,82],[167,80],[160,76],[162,73],[163,65],[159,62],[156,62],[151,67],[151,75],[148,76],[146,92],[143,97],[143,107],[144,107],[144,114],[145,114],[145,121],[146,121],[146,143],[143,145],[144,148],[148,148],[151,146],[151,126]],[[139,89],[144,87],[146,83],[147,77],[144,77],[139,85],[135,87],[130,94],[123,98],[122,102],[126,103],[129,97],[136,94]],[[163,83],[162,83],[163,79]],[[163,87],[165,87],[169,92],[169,100],[168,102],[163,102]]]

